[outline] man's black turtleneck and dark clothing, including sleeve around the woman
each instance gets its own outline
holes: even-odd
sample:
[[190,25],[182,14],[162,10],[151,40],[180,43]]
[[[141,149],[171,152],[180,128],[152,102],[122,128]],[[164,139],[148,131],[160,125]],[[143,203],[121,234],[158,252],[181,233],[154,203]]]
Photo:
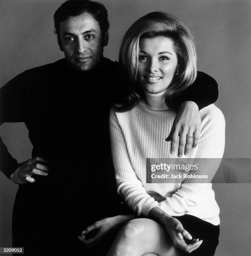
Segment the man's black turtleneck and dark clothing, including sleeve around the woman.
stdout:
[[[27,70],[0,89],[0,124],[25,122],[32,157],[48,160],[50,169],[48,177],[19,186],[13,246],[33,254],[35,248],[46,252],[56,244],[60,253],[72,254],[72,245],[84,252],[76,236],[86,226],[124,213],[109,139],[109,110],[123,81],[117,62],[109,59],[89,72],[76,71],[61,59]],[[218,85],[202,72],[196,81],[182,99],[203,108],[217,99]],[[18,163],[1,139],[0,159],[0,170],[9,178]]]

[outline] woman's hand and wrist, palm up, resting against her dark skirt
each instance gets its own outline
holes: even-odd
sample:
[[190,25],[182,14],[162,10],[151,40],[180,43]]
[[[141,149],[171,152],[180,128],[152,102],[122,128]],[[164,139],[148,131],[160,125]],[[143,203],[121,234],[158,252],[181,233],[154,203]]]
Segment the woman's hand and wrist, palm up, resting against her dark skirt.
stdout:
[[198,241],[198,239],[194,240],[192,243],[187,243],[185,240],[192,241],[190,233],[183,228],[179,220],[168,215],[160,207],[153,207],[149,211],[148,216],[164,226],[175,247],[187,253],[191,253],[200,247],[202,241]]

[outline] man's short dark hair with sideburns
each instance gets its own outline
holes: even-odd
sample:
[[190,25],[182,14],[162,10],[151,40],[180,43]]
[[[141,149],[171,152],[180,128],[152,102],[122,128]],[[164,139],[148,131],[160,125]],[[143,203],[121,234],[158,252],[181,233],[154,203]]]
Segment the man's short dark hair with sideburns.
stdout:
[[55,33],[61,51],[63,51],[63,49],[60,41],[60,23],[66,20],[69,16],[79,16],[82,13],[91,14],[99,23],[104,40],[105,32],[109,28],[108,14],[105,6],[101,3],[89,0],[68,0],[63,3],[54,14]]

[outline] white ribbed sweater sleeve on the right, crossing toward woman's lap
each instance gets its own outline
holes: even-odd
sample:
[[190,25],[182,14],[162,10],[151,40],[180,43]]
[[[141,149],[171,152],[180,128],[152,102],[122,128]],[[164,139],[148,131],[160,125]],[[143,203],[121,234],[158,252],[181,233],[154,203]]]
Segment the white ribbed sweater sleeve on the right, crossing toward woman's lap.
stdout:
[[[210,164],[204,164],[196,174],[209,174],[213,177],[216,173],[225,146],[225,119],[221,110],[212,107],[203,110],[205,117],[202,121],[200,140],[195,154],[195,159],[207,159]],[[215,159],[215,160],[212,160]],[[203,197],[203,191],[208,183],[199,183],[198,179],[185,179],[180,189],[177,189],[171,197],[159,203],[159,207],[170,215],[183,215],[191,212]]]

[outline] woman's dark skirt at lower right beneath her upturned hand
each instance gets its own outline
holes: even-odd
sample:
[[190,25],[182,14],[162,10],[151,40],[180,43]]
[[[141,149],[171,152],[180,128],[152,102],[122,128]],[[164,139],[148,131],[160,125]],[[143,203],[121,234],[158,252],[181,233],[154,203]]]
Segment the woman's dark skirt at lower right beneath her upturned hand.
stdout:
[[216,247],[219,243],[220,227],[213,225],[207,221],[196,218],[192,215],[185,214],[183,216],[174,216],[180,220],[183,228],[187,230],[193,238],[203,240],[203,243],[198,249],[192,253],[187,253],[191,256],[213,256]]

